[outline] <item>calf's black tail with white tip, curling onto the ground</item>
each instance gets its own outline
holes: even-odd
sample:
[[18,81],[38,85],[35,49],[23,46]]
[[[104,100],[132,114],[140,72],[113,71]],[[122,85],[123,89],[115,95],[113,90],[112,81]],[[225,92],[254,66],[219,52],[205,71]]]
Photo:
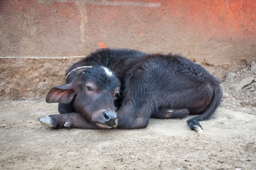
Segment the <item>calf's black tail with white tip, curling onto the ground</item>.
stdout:
[[217,108],[221,104],[222,99],[222,89],[219,84],[216,86],[212,86],[213,88],[213,99],[209,105],[209,108],[199,116],[190,118],[187,120],[187,124],[190,129],[197,131],[197,133],[201,134],[203,133],[203,128],[199,124],[199,121],[208,120],[212,115],[216,112]]

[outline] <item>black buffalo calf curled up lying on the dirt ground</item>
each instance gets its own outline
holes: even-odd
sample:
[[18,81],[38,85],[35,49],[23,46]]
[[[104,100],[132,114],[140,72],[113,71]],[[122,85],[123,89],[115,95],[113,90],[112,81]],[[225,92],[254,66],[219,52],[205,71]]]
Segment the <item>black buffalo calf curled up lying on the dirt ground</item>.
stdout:
[[59,115],[38,120],[46,128],[139,129],[150,117],[187,120],[202,133],[222,98],[220,83],[200,65],[172,54],[100,49],[75,63],[67,84],[53,87],[48,103],[59,103]]

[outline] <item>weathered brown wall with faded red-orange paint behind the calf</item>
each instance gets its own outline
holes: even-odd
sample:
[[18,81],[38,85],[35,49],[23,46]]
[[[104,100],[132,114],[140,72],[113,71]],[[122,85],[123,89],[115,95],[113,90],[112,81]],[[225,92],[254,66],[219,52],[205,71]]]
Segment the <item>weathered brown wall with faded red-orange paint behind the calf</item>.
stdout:
[[221,80],[256,58],[255,8],[254,0],[0,1],[0,100],[44,97],[77,61],[61,58],[104,45],[181,53]]

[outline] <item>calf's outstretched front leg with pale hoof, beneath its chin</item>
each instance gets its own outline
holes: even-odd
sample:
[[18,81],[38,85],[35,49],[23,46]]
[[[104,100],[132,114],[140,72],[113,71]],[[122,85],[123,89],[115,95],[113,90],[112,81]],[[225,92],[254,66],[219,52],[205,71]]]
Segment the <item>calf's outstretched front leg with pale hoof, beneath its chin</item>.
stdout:
[[46,129],[98,129],[93,122],[86,121],[79,113],[52,114],[38,118]]

